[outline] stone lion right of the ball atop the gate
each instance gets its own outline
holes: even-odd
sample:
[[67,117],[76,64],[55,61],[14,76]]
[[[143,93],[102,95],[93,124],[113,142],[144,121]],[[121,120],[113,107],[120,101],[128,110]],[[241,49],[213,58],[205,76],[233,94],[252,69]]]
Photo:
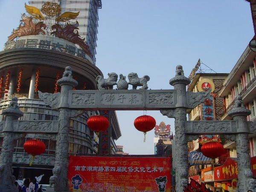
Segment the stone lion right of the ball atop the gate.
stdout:
[[143,76],[142,78],[139,78],[137,73],[129,73],[128,79],[128,84],[132,85],[132,89],[137,89],[137,86],[142,86],[140,89],[148,89],[147,82],[150,80],[149,76]]

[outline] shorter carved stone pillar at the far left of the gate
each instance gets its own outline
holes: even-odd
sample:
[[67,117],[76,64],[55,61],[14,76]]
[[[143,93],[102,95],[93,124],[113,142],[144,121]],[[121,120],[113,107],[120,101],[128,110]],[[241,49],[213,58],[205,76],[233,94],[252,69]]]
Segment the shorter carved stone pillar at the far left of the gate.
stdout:
[[12,176],[12,157],[16,135],[13,132],[13,121],[23,116],[23,113],[18,108],[17,97],[12,99],[3,114],[6,116],[6,120],[3,127],[4,137],[0,154],[0,192],[17,192],[17,187],[14,184],[15,178]]

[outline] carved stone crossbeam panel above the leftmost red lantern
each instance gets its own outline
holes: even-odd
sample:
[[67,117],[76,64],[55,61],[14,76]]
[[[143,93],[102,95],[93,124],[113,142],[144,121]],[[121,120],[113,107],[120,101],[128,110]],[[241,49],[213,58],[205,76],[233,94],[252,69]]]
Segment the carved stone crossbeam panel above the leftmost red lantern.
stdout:
[[14,131],[22,133],[58,133],[58,121],[15,121]]

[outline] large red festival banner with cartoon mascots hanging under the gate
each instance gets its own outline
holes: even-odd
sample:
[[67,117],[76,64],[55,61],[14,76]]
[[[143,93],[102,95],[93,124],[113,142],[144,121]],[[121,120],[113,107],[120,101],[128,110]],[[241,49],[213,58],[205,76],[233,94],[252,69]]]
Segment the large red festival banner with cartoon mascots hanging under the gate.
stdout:
[[69,157],[71,192],[171,191],[171,157]]

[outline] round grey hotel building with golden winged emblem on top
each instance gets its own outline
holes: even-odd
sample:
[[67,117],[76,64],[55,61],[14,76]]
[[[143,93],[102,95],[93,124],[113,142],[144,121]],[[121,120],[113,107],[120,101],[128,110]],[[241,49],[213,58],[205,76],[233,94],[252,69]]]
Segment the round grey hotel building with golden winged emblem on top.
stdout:
[[[93,51],[95,46],[88,43],[89,37],[87,37],[88,35],[96,37],[97,25],[93,27],[95,31],[90,31],[88,34],[89,24],[88,26],[82,24],[81,33],[87,37],[87,42],[84,42],[78,35],[77,30],[80,29],[76,29],[79,26],[73,24],[76,23],[76,18],[66,15],[61,25],[58,25],[61,21],[55,21],[52,18],[57,18],[66,11],[75,11],[76,7],[79,7],[77,10],[80,11],[79,14],[89,14],[90,9],[97,12],[101,8],[101,1],[33,0],[29,3],[31,4],[25,5],[29,7],[26,7],[27,13],[22,15],[20,26],[8,37],[4,50],[0,52],[0,113],[8,107],[10,100],[15,96],[18,98],[20,110],[24,113],[20,120],[58,120],[58,111],[40,100],[38,91],[58,93],[60,87],[56,82],[67,66],[72,67],[73,78],[79,82],[74,88],[76,90],[97,89],[95,79],[99,75],[102,76],[102,72],[95,66]],[[41,4],[47,5],[48,11],[39,9]],[[57,6],[61,12],[58,15],[49,16],[53,6]],[[39,12],[36,12],[38,10]],[[97,14],[90,17],[93,17],[92,21],[98,20]],[[88,23],[90,17],[84,15],[79,17],[79,25]],[[49,20],[54,20],[55,23],[50,23]],[[49,27],[55,33],[47,33]],[[68,38],[70,35],[74,38]],[[76,40],[73,41],[74,39]],[[98,133],[87,127],[87,119],[99,113],[99,111],[87,111],[70,120],[70,155],[97,154],[100,137]],[[0,115],[0,119],[4,120],[3,115]],[[111,148],[111,154],[115,154],[115,140],[121,136],[115,112],[110,119],[110,125],[111,141],[108,148]],[[42,140],[46,145],[46,151],[36,157],[33,166],[29,167],[32,158],[24,151],[23,144],[32,138]],[[55,136],[51,134],[26,134],[15,140],[13,168],[16,179],[22,180],[44,174],[41,183],[48,183],[55,162],[55,140]],[[0,150],[2,142],[3,135],[0,134]]]

